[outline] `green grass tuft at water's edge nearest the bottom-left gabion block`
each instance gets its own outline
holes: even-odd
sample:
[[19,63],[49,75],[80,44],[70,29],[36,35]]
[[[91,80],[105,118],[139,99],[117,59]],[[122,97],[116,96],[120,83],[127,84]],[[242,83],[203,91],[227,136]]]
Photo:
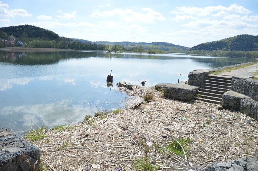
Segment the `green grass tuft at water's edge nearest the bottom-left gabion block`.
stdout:
[[36,130],[30,130],[24,135],[24,138],[33,143],[35,140],[40,140],[46,137],[44,130],[45,132],[48,131],[48,128],[45,125],[41,126],[41,128],[37,128]]

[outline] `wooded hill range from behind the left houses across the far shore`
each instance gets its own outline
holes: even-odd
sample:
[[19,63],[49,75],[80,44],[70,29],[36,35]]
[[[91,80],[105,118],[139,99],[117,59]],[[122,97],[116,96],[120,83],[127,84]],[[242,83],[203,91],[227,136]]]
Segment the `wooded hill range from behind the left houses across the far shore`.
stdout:
[[[59,48],[59,49],[75,49],[75,50],[121,50],[133,52],[151,52],[151,53],[164,53],[174,52],[182,53],[189,51],[189,47],[179,46],[167,42],[109,42],[109,41],[89,41],[78,38],[60,37],[53,31],[44,28],[36,27],[33,25],[18,25],[0,28],[0,37],[2,39],[15,39],[22,41],[24,47],[35,48]],[[2,42],[1,42],[2,43]],[[7,46],[5,43],[0,44],[0,48]],[[111,46],[110,46],[111,45]],[[17,44],[13,46],[18,46]]]

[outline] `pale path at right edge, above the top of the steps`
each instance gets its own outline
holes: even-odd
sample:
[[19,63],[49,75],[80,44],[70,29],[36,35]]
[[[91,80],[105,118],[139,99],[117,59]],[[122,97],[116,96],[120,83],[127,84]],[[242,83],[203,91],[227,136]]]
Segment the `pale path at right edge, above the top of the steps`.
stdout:
[[232,70],[231,72],[221,73],[218,75],[235,76],[239,78],[252,78],[255,76],[256,78],[258,78],[258,63],[244,68]]

